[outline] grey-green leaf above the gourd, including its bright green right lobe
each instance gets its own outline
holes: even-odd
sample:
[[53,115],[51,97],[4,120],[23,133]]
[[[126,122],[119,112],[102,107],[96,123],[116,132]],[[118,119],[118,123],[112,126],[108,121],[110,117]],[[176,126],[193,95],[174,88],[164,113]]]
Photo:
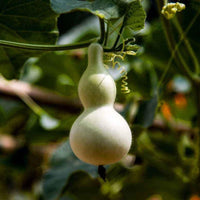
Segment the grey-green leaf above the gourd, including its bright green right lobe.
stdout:
[[133,30],[142,29],[146,18],[139,0],[51,0],[51,6],[59,14],[81,10],[107,20],[119,19],[124,16],[124,25]]

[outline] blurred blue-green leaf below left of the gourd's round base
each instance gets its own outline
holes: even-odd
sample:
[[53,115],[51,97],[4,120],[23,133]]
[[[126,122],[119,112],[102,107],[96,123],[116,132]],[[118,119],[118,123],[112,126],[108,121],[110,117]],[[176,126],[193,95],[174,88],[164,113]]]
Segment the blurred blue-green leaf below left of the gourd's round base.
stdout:
[[64,143],[53,154],[51,169],[44,175],[43,189],[46,200],[55,200],[63,192],[71,173],[83,170],[93,177],[97,175],[97,167],[80,161],[73,154],[68,142]]

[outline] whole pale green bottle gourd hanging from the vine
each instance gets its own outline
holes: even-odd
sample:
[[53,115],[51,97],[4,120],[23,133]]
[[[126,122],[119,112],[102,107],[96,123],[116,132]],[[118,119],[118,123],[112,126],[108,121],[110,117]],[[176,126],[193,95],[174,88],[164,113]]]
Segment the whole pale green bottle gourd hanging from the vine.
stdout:
[[113,104],[116,86],[103,64],[103,49],[93,43],[88,49],[88,67],[83,73],[78,94],[84,106],[70,131],[70,145],[82,161],[105,165],[119,161],[131,146],[131,130]]

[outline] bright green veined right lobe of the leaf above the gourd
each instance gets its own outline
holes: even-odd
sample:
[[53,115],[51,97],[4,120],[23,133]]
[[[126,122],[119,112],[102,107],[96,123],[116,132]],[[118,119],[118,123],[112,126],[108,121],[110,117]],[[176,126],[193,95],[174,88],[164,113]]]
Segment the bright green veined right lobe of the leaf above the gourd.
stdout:
[[145,11],[140,0],[135,0],[128,6],[124,17],[124,26],[138,31],[144,28],[146,19]]

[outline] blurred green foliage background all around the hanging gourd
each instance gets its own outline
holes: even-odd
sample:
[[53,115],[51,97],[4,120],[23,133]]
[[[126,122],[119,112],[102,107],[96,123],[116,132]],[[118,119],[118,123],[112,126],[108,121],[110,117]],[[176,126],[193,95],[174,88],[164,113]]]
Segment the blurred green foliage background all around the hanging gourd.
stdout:
[[[59,42],[62,43],[61,38],[69,43],[68,38],[73,38],[71,43],[84,41],[99,34],[97,16],[104,14],[112,24],[107,47],[111,47],[117,38],[123,17],[127,18],[126,25],[133,24],[126,27],[122,36],[134,37],[135,44],[140,46],[137,56],[126,56],[122,62],[128,71],[130,94],[120,92],[119,70],[109,69],[116,79],[116,100],[123,105],[119,112],[129,122],[134,140],[127,158],[106,166],[106,182],[99,178],[97,167],[79,161],[70,149],[68,134],[81,112],[79,103],[74,112],[39,103],[48,115],[38,116],[22,99],[5,95],[0,88],[0,199],[200,199],[199,113],[194,85],[173,60],[158,89],[171,52],[154,7],[156,2],[142,2],[148,15],[145,28],[141,31],[137,27],[142,27],[145,15],[140,2],[116,2],[63,0],[60,3],[51,0],[57,12],[70,11],[57,19],[58,15],[50,9],[48,0],[0,1],[0,40],[53,44],[58,39],[56,20],[65,17],[64,27],[73,20],[71,16],[77,14],[80,19],[73,21],[77,26],[67,30]],[[66,3],[69,4],[68,8]],[[133,4],[139,6],[136,13],[132,13]],[[123,10],[129,6],[130,9],[124,14]],[[198,60],[199,8],[199,2],[192,0],[186,10],[177,16],[183,30],[197,17],[186,36]],[[90,27],[84,24],[84,20],[82,24],[79,23],[83,11],[88,9],[88,18],[92,18]],[[132,19],[133,14],[142,16],[138,18],[139,22],[137,17]],[[83,16],[86,16],[85,13]],[[133,22],[135,20],[139,25]],[[175,21],[172,20],[170,24],[177,44],[182,36],[177,31]],[[119,42],[122,42],[122,38]],[[194,71],[193,60],[184,42],[179,49]],[[6,79],[17,77],[20,81],[42,90],[48,89],[73,102],[78,102],[77,85],[86,65],[87,49],[44,53],[0,48],[0,73]],[[194,195],[196,199],[192,199]]]

